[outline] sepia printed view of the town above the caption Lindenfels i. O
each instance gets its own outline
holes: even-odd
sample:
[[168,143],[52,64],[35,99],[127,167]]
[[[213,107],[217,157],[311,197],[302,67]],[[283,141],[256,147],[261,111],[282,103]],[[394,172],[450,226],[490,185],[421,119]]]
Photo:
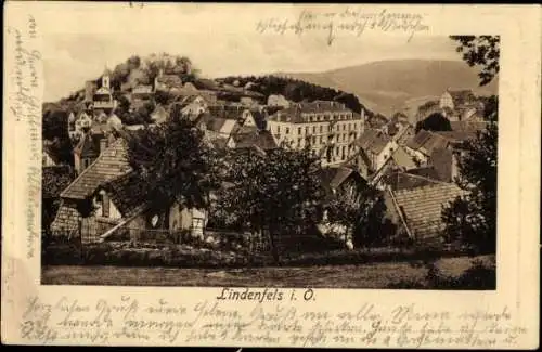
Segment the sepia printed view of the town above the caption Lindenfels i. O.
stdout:
[[499,36],[178,37],[51,38],[42,284],[495,289]]

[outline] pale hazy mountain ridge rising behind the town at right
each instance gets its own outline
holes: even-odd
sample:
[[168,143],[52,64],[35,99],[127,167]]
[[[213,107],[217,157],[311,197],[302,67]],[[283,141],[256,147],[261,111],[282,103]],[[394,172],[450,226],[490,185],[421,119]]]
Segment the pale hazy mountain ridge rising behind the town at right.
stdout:
[[463,61],[393,60],[344,67],[323,73],[275,73],[310,83],[356,94],[370,109],[387,117],[411,115],[424,102],[438,99],[447,89],[472,89],[475,94],[498,93],[498,79],[479,87],[476,67]]

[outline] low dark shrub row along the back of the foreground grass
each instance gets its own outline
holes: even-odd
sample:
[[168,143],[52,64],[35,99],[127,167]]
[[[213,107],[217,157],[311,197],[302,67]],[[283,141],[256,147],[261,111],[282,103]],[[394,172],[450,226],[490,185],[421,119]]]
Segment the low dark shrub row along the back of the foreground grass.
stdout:
[[[421,248],[373,248],[332,250],[310,253],[283,253],[281,265],[343,265],[369,262],[422,261],[428,263],[457,251]],[[275,265],[271,253],[255,253],[246,249],[217,250],[190,245],[138,244],[107,242],[82,248],[70,243],[47,246],[42,255],[46,265],[121,265],[180,268],[246,268]]]

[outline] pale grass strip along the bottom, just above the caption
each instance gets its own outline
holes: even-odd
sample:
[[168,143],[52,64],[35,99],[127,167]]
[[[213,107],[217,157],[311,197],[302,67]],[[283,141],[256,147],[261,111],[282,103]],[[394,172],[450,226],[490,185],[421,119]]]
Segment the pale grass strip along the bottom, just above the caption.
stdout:
[[[447,275],[457,276],[470,266],[472,260],[446,258],[437,265]],[[51,265],[43,268],[41,282],[44,285],[386,288],[400,281],[423,283],[426,274],[425,266],[409,262],[228,270]]]

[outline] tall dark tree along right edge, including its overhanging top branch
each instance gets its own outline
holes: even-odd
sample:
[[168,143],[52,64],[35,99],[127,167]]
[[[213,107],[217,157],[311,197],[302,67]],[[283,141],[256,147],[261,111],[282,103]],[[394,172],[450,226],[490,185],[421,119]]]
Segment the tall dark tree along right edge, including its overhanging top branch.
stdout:
[[[470,66],[482,66],[480,84],[489,83],[499,73],[499,37],[467,37],[460,42],[466,50],[464,60]],[[460,240],[482,252],[496,249],[498,106],[496,96],[488,100],[487,128],[460,146],[455,182],[466,194],[442,210],[448,240]]]

